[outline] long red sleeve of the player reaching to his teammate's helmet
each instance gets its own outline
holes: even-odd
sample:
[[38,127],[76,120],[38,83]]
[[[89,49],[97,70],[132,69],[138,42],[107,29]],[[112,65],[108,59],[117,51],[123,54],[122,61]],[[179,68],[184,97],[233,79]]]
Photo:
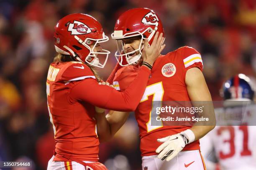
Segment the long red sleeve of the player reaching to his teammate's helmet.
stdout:
[[97,107],[118,111],[134,111],[146,89],[150,70],[141,67],[137,77],[123,92],[99,85],[94,79],[85,79],[70,90],[70,100],[82,100]]

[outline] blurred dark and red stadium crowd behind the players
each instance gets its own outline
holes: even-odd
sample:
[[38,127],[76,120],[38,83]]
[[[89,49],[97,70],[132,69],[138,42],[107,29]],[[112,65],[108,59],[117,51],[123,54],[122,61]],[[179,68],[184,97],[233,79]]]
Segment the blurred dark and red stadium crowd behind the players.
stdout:
[[[56,55],[53,31],[70,13],[95,17],[110,37],[106,80],[116,61],[115,20],[125,10],[148,7],[165,28],[164,54],[188,45],[202,54],[204,75],[213,100],[222,100],[224,80],[237,73],[255,77],[255,0],[0,0],[0,160],[30,160],[46,169],[54,135],[46,102],[46,75]],[[118,103],[117,103],[118,104]],[[100,161],[111,170],[139,170],[138,128],[131,114]]]

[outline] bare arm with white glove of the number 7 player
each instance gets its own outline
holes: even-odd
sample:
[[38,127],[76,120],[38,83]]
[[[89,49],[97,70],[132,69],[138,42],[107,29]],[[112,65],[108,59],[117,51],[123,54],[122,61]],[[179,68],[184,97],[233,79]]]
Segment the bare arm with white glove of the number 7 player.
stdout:
[[[196,122],[190,129],[158,139],[158,142],[162,142],[162,144],[156,149],[156,153],[159,153],[158,158],[161,160],[172,160],[172,158],[174,158],[186,144],[202,138],[210,132],[216,124],[212,98],[202,72],[197,67],[190,68],[186,72],[185,83],[193,106],[201,107],[203,103],[205,107],[200,116],[208,117],[210,123],[204,123],[204,125],[200,123],[200,125],[198,125],[198,122]],[[200,103],[198,101],[208,102]]]

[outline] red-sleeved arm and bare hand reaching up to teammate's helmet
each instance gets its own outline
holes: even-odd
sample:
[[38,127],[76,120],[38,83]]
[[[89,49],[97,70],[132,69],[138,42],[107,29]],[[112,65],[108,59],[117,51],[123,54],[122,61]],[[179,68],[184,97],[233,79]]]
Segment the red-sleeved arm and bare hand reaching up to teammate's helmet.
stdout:
[[[164,49],[164,38],[161,33],[156,32],[154,40],[148,47],[148,39],[144,40],[143,61],[154,64],[154,61]],[[144,90],[148,82],[151,71],[148,67],[142,65],[137,77],[123,92],[118,92],[109,86],[100,86],[96,80],[85,79],[70,90],[70,99],[74,102],[82,100],[89,102],[97,107],[118,110],[118,111],[134,111],[143,96]]]

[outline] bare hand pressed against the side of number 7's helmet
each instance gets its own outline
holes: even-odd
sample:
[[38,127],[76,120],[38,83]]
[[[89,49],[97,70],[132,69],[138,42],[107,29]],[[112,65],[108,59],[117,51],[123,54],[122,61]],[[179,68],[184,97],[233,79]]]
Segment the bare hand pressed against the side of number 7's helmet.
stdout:
[[144,40],[144,47],[141,55],[143,62],[147,62],[152,66],[156,58],[160,55],[160,52],[165,47],[165,44],[162,45],[163,43],[164,43],[163,33],[160,33],[159,35],[159,32],[156,32],[150,47],[148,47],[148,39],[146,38]]

